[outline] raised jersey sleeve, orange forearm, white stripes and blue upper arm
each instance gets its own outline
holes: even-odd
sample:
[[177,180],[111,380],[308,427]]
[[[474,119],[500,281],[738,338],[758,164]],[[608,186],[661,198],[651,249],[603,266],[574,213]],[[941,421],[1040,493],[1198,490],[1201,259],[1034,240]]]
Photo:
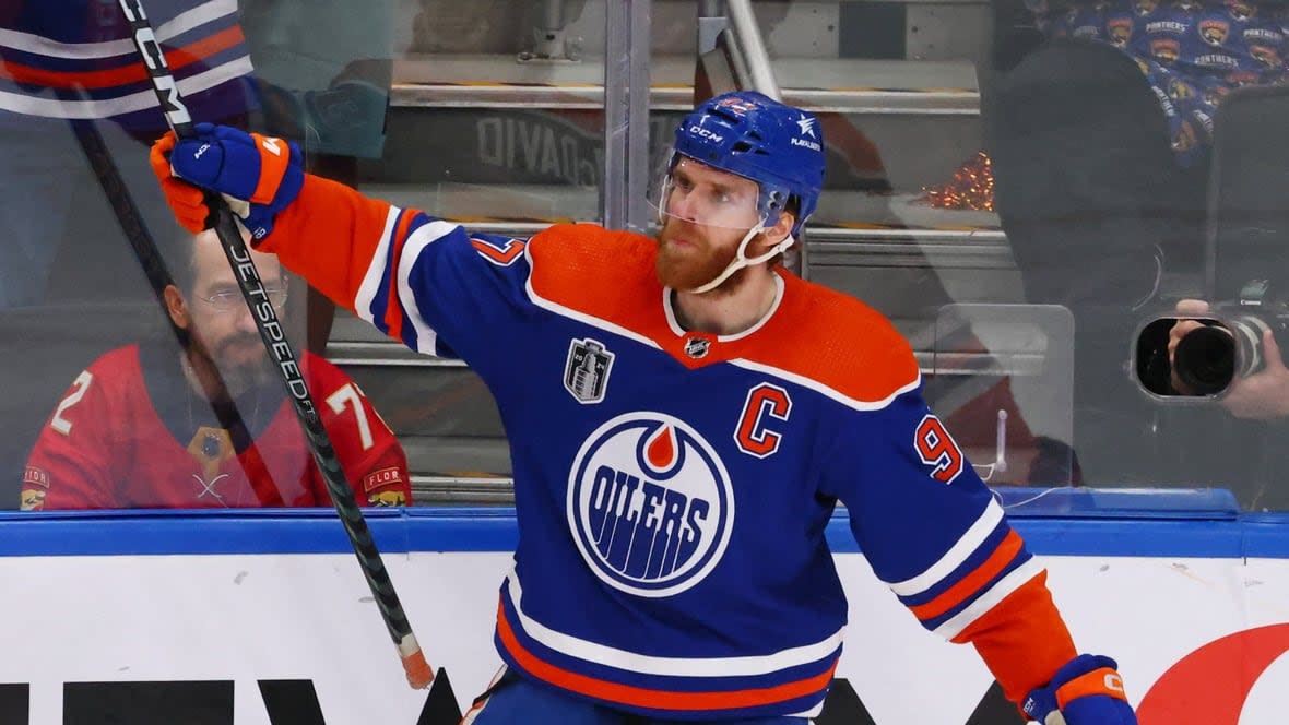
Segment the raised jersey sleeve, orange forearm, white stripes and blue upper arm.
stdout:
[[305,175],[260,249],[412,350],[473,366],[534,312],[527,243]]

